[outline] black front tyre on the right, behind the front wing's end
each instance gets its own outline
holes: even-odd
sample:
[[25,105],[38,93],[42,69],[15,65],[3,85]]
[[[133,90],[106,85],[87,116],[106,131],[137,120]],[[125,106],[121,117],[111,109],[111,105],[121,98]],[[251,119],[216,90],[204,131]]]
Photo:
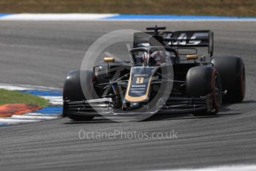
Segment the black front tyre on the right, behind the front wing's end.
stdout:
[[209,65],[190,68],[186,77],[186,94],[191,97],[211,94],[213,110],[208,112],[207,109],[203,109],[193,112],[193,115],[217,114],[223,103],[220,75]]

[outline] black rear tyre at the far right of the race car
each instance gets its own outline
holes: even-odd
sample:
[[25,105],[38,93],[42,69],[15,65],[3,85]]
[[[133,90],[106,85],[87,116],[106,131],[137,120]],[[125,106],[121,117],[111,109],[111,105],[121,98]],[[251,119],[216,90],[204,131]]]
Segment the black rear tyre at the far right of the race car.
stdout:
[[238,103],[246,94],[246,69],[240,57],[214,57],[211,62],[220,74],[225,102]]

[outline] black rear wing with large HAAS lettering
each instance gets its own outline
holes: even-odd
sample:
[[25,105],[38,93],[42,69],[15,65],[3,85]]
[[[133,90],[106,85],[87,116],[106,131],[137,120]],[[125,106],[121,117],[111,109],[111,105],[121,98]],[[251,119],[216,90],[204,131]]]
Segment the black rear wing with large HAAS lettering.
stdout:
[[[133,47],[149,46],[149,38],[154,32],[134,33]],[[176,32],[159,33],[164,42],[170,47],[176,48],[208,48],[208,54],[214,54],[214,33],[211,30],[185,30]]]

